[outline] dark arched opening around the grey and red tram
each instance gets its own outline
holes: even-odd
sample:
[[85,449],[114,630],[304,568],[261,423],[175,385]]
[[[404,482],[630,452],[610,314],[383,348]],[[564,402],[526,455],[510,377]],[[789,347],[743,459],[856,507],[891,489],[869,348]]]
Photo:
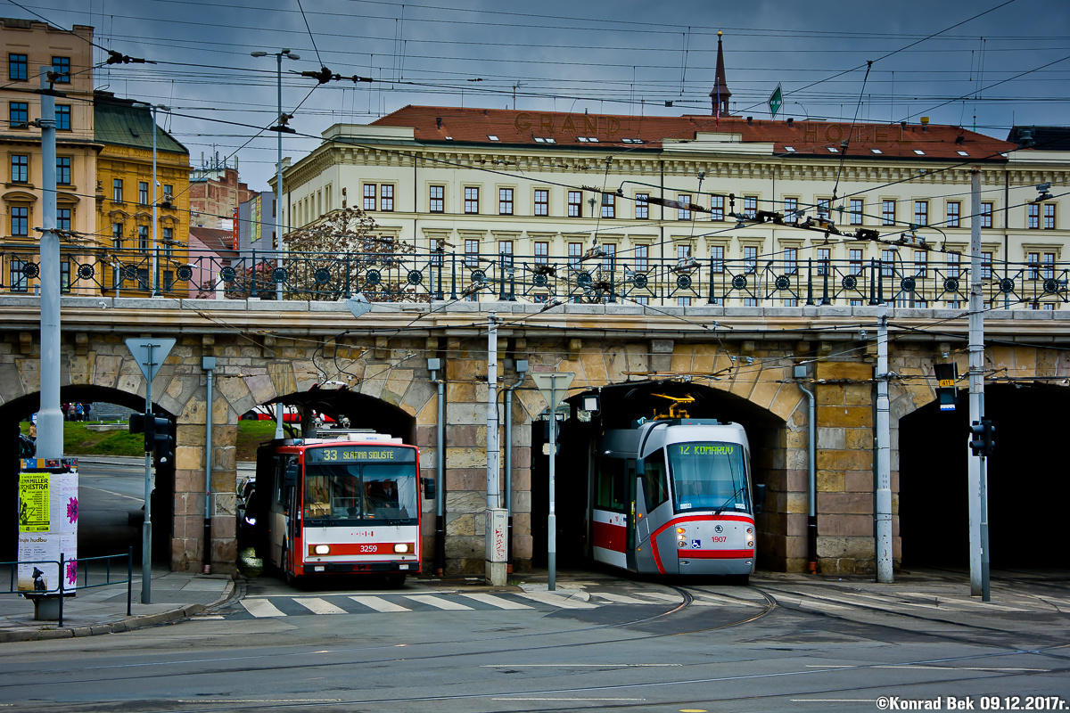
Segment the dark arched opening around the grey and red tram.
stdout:
[[[586,417],[582,410],[585,396],[597,394],[599,410]],[[656,396],[661,394],[661,396]],[[668,397],[668,398],[664,398]],[[752,480],[774,483],[783,474],[786,437],[784,421],[734,393],[701,384],[677,381],[631,382],[614,384],[570,397],[559,407],[561,421],[555,464],[556,562],[559,567],[585,568],[585,518],[587,508],[587,468],[598,437],[609,429],[630,428],[632,421],[649,419],[655,413],[668,413],[674,399],[694,401],[679,406],[689,418],[717,419],[744,427],[751,448]],[[532,564],[547,565],[549,499],[549,409],[546,420],[532,423],[531,528],[533,538]],[[561,418],[559,416],[559,418]],[[779,518],[760,516],[761,542],[770,542],[785,534]],[[763,565],[761,545],[759,565]]]

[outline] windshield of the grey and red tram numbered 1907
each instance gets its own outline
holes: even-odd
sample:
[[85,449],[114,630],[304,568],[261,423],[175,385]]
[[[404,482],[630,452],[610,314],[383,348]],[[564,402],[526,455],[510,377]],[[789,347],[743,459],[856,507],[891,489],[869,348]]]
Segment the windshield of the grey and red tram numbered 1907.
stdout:
[[673,505],[685,510],[750,512],[747,467],[739,444],[672,444],[669,475]]

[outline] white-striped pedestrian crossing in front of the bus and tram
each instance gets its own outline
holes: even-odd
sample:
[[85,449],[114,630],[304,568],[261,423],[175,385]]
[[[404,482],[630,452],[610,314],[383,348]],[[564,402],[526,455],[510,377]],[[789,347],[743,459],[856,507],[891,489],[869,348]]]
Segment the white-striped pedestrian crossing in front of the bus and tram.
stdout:
[[[303,615],[339,614],[399,614],[412,611],[475,611],[475,610],[531,610],[553,611],[559,609],[597,609],[603,606],[648,606],[671,609],[683,603],[676,593],[659,591],[516,591],[490,592],[433,592],[433,593],[383,593],[383,594],[324,594],[251,595],[241,600],[241,609],[230,617],[273,618]],[[707,606],[747,605],[730,598],[709,600]]]

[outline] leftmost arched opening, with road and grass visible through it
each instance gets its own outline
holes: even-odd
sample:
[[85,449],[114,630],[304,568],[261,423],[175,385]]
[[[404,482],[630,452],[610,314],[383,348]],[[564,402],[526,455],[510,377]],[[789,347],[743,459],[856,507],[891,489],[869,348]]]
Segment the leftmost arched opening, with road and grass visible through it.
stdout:
[[[144,398],[119,389],[91,385],[67,385],[60,389],[61,404],[92,404],[85,415],[88,428],[127,429],[126,422],[98,425],[94,421],[107,405],[135,412],[144,410]],[[31,393],[0,406],[0,434],[5,448],[0,450],[0,509],[16,512],[18,502],[19,458],[16,447],[20,424],[41,408],[41,394]],[[95,413],[94,413],[95,412]],[[157,416],[172,421],[174,415],[153,405]],[[125,412],[124,412],[125,413]],[[118,428],[117,428],[118,427]],[[65,458],[78,459],[78,556],[123,555],[133,547],[135,560],[141,556],[141,523],[144,518],[144,459],[80,454],[74,444],[64,445]],[[174,464],[160,463],[153,455],[155,487],[152,492],[152,559],[169,562],[174,521]],[[2,521],[0,557],[18,556],[18,523],[15,517]]]

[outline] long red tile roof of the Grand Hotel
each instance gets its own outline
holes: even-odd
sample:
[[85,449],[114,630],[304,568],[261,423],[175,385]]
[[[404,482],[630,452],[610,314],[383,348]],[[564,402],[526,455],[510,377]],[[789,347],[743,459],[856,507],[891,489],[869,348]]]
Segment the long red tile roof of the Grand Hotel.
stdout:
[[[612,148],[642,151],[662,149],[666,139],[693,141],[697,133],[738,134],[744,143],[774,144],[774,153],[839,158],[841,141],[850,137],[847,158],[997,160],[1013,143],[960,126],[930,124],[855,124],[754,120],[712,115],[625,117],[514,111],[459,107],[407,106],[372,122],[377,126],[407,126],[417,141],[546,145],[549,139],[568,148]],[[491,137],[498,137],[496,140]],[[582,139],[597,139],[597,142]],[[829,151],[836,149],[837,151]],[[873,150],[881,153],[875,153]],[[794,151],[793,151],[794,150]],[[922,152],[922,153],[918,153]],[[962,153],[960,153],[962,152]],[[965,155],[963,155],[963,153]]]

